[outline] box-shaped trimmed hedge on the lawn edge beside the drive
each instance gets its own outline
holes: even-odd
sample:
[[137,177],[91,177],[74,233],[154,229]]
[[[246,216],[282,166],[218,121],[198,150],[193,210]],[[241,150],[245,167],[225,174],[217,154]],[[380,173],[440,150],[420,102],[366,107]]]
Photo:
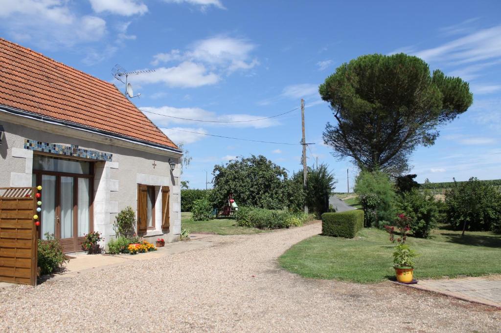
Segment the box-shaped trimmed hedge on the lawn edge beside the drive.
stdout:
[[362,209],[322,214],[322,234],[326,236],[353,238],[363,227]]

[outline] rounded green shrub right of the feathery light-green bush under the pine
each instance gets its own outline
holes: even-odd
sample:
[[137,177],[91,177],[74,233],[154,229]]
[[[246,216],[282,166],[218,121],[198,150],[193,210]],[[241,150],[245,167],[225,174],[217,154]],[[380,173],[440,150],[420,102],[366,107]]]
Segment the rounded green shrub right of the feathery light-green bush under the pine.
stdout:
[[397,211],[407,216],[414,237],[429,238],[441,219],[440,205],[430,192],[418,193],[413,189],[402,193]]

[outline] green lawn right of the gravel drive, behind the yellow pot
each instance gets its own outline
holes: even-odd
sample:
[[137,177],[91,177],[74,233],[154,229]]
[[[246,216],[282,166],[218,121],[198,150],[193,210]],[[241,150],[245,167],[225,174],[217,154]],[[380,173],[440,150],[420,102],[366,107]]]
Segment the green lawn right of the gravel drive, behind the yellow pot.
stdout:
[[[280,258],[282,267],[305,277],[379,282],[395,276],[393,246],[384,230],[364,228],[353,239],[317,235],[292,246]],[[421,256],[416,278],[501,273],[501,235],[491,232],[434,230],[431,239],[409,237]]]

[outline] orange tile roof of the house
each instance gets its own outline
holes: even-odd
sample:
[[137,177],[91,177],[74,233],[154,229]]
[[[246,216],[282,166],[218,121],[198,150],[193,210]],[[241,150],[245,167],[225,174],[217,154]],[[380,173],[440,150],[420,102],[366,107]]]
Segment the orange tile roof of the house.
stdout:
[[178,149],[114,84],[3,38],[0,104]]

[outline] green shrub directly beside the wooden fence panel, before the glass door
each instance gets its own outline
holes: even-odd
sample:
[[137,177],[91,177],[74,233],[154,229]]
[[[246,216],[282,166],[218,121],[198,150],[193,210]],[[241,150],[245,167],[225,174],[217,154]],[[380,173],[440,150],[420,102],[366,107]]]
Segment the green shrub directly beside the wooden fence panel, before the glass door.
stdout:
[[38,266],[41,274],[50,274],[61,269],[65,261],[69,261],[63,253],[63,246],[54,235],[45,233],[46,240],[38,240]]

